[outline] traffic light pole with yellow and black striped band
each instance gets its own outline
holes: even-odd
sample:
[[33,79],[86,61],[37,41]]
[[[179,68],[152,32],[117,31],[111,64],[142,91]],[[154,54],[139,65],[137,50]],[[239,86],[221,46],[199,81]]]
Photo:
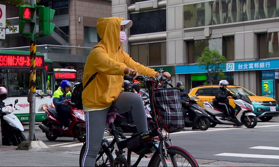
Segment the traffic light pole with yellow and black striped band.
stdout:
[[[30,0],[32,6],[36,0]],[[30,91],[28,93],[29,107],[29,135],[28,141],[36,141],[35,137],[35,110],[36,110],[36,10],[32,22],[35,22],[32,37],[30,39]]]

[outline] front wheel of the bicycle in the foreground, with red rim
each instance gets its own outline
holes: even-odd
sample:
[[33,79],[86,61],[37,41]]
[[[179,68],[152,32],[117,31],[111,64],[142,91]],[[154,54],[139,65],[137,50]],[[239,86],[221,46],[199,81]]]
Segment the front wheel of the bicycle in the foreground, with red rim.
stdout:
[[[167,149],[167,157],[164,157],[168,166],[199,166],[193,156],[186,150],[169,146]],[[157,154],[152,166],[163,166],[160,155]]]

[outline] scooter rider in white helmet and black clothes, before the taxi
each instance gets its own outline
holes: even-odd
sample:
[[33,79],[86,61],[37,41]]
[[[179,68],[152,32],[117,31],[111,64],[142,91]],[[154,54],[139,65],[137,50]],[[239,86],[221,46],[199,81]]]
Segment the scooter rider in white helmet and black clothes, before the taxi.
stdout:
[[231,112],[233,112],[233,107],[229,105],[229,99],[235,97],[231,92],[227,90],[229,82],[227,80],[221,80],[219,82],[220,88],[217,90],[215,94],[215,99],[213,99],[213,105],[222,109],[225,114],[225,119],[231,120]]

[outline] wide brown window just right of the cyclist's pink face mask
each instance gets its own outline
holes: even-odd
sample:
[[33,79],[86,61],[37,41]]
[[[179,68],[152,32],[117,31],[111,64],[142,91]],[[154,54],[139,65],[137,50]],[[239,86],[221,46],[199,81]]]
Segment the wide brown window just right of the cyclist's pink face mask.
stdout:
[[166,65],[166,42],[131,45],[131,57],[146,66]]

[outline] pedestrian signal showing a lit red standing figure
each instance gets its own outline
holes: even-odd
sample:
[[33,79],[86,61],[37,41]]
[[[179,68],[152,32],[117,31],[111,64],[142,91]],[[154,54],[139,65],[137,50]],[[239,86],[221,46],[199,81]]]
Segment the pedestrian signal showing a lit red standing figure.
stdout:
[[19,34],[25,37],[32,37],[36,22],[32,22],[35,8],[31,5],[19,6]]

